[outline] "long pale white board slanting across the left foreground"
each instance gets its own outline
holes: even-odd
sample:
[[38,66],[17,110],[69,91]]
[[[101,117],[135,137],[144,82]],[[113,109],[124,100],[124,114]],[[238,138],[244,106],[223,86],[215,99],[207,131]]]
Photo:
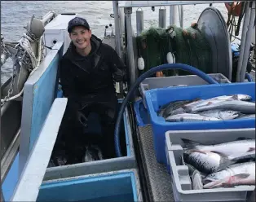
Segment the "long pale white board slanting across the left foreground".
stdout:
[[25,164],[24,172],[20,175],[11,201],[37,200],[39,187],[55,145],[67,101],[66,98],[58,98],[52,103],[51,109],[43,121],[42,130],[38,134],[38,140],[33,143],[31,155]]

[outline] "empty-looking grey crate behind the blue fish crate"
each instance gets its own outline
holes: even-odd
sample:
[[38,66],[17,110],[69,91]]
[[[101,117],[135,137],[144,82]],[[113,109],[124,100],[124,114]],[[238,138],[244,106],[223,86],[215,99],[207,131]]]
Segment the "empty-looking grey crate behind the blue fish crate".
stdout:
[[[210,73],[207,74],[208,76],[212,77],[218,83],[231,83],[221,73]],[[143,97],[143,103],[146,107],[144,101],[144,94],[147,90],[157,89],[157,88],[168,88],[171,86],[177,85],[186,85],[186,86],[198,86],[198,85],[207,85],[208,82],[203,80],[201,77],[197,75],[188,75],[188,76],[174,76],[174,77],[152,77],[146,78],[139,84],[139,92]]]

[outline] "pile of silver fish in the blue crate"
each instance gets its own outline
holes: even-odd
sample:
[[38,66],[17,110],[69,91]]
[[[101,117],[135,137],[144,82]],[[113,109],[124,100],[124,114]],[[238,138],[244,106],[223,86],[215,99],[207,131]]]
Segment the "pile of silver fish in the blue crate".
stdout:
[[211,99],[178,100],[162,106],[157,116],[164,117],[168,122],[255,118],[255,102],[247,94],[222,95]]

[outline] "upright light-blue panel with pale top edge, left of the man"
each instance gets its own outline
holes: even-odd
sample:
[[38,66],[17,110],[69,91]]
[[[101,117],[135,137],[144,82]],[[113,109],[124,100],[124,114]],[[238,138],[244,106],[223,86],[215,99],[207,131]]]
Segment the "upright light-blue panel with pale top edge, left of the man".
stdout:
[[19,173],[24,169],[51,104],[57,96],[58,81],[56,77],[63,46],[63,42],[56,42],[40,67],[24,84]]

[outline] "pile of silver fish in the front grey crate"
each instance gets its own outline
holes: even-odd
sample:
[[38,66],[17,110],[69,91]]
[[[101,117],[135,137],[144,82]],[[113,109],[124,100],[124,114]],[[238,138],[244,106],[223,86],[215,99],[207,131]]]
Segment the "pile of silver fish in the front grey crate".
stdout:
[[182,138],[192,189],[255,185],[255,139],[204,145]]

